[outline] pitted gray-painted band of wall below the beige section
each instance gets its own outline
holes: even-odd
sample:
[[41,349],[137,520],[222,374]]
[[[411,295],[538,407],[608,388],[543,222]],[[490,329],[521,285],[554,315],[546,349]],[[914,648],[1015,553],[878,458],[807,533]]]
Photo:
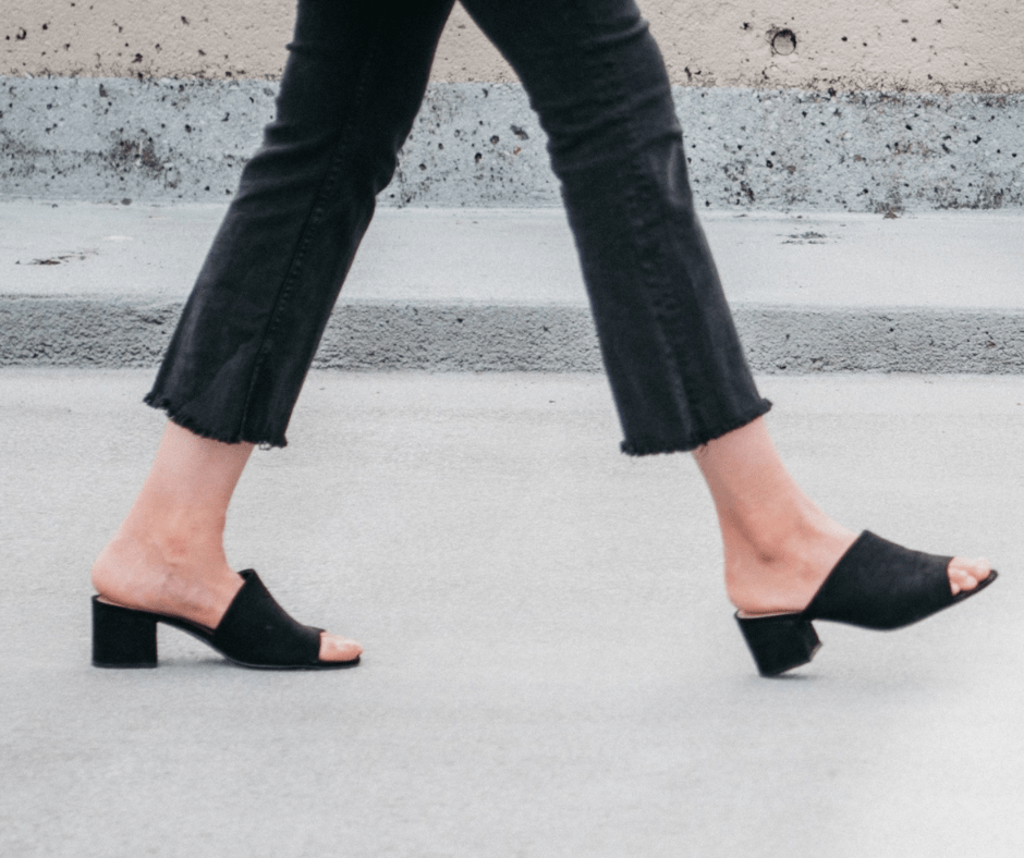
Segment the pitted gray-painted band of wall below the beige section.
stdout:
[[[265,81],[0,78],[0,196],[222,200],[273,113]],[[1024,95],[675,89],[703,207],[1024,206]],[[391,206],[558,206],[517,84],[432,84]]]

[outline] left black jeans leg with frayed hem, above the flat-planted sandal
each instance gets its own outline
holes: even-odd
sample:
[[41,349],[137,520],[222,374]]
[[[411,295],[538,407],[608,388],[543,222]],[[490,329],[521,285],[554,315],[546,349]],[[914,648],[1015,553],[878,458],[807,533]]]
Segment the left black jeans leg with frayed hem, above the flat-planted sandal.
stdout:
[[287,443],[452,2],[300,0],[276,119],[146,397],[174,422],[229,443]]

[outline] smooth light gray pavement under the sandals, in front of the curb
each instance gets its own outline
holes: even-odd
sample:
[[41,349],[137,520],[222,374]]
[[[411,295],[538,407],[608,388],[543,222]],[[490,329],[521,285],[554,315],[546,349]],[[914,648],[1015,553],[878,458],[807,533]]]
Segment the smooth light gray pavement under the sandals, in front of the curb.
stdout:
[[0,371],[0,855],[1024,850],[1024,379],[759,379],[833,515],[1002,574],[902,632],[820,624],[765,681],[692,459],[619,455],[573,373],[310,376],[229,555],[357,669],[161,632],[159,670],[94,670],[87,569],[154,452],[150,376]]

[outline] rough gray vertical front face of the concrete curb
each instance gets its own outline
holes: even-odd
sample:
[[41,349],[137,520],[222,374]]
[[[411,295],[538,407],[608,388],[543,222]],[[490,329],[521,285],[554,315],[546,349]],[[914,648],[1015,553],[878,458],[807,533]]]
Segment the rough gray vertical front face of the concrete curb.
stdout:
[[[154,367],[180,302],[0,298],[0,366]],[[1024,372],[1024,311],[734,306],[758,372]],[[583,306],[356,302],[331,318],[315,367],[601,370]]]

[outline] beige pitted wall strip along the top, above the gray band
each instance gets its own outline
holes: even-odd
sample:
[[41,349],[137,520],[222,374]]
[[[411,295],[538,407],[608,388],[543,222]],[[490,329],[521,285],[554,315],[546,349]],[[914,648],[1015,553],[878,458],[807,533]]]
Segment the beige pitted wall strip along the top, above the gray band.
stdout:
[[[674,83],[1024,91],[1022,0],[641,0]],[[0,74],[275,77],[293,0],[2,0]],[[789,29],[795,50],[772,36]],[[788,37],[775,41],[785,51]],[[461,7],[438,81],[515,79]]]

